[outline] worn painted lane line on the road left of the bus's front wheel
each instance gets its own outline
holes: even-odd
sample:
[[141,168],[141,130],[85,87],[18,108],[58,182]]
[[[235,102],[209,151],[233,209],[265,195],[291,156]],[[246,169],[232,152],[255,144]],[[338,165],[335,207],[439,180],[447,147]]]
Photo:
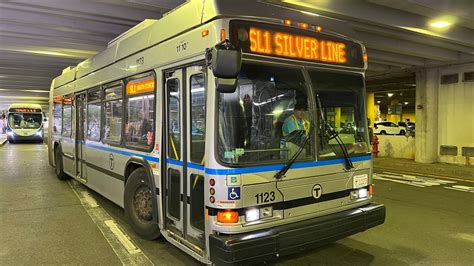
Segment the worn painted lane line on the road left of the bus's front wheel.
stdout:
[[79,182],[69,186],[123,265],[154,265]]

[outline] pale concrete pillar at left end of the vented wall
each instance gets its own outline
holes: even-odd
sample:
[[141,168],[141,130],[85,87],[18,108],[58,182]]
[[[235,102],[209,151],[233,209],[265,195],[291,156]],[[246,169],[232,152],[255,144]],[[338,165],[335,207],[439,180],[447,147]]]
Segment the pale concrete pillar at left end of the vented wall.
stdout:
[[438,69],[416,73],[415,161],[438,161]]

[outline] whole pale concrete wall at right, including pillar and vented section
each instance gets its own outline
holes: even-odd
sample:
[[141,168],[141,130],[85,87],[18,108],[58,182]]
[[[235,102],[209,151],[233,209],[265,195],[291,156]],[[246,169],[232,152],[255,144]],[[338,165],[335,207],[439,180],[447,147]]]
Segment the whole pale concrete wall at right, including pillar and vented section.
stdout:
[[[464,164],[462,147],[474,147],[474,82],[463,81],[474,63],[429,68],[416,76],[415,161]],[[458,82],[441,84],[443,75]],[[458,155],[440,155],[440,146],[458,147]]]

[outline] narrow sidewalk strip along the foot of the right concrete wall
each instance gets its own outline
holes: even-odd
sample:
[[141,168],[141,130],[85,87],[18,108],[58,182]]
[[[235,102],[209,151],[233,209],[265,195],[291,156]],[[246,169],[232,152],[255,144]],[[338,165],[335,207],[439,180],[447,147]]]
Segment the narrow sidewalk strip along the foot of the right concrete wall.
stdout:
[[454,165],[445,163],[417,163],[409,159],[373,158],[374,168],[384,171],[404,171],[408,173],[456,177],[474,180],[474,165]]

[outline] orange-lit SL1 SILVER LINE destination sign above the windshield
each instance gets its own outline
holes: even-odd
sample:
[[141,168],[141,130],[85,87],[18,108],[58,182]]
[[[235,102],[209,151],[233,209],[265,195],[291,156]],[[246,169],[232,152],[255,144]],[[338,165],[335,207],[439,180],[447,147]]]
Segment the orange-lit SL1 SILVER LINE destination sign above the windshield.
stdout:
[[243,52],[318,63],[363,67],[358,43],[312,30],[232,21],[232,43]]

